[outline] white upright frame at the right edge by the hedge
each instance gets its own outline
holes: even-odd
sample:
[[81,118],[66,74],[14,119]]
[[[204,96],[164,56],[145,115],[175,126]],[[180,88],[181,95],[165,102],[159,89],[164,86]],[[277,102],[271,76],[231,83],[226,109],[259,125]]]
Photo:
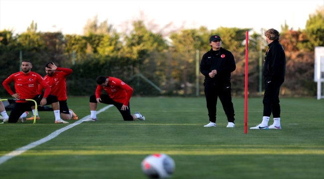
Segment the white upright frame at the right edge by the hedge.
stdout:
[[324,98],[324,47],[315,47],[314,81],[317,82],[317,99]]

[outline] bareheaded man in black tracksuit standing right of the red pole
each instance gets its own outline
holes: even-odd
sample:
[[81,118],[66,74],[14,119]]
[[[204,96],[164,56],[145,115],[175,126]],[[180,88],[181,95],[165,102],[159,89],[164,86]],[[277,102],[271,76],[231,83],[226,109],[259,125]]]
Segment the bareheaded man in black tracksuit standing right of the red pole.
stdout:
[[[284,48],[279,43],[280,34],[275,29],[269,29],[265,33],[269,48],[264,58],[264,97],[262,123],[250,129],[281,129],[279,90],[285,81],[286,56]],[[268,126],[271,113],[274,123]]]

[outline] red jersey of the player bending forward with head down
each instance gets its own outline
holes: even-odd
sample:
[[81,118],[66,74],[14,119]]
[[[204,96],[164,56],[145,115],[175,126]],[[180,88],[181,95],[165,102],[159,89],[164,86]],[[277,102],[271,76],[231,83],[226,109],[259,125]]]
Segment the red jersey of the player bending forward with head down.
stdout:
[[101,92],[104,89],[114,101],[128,105],[133,93],[133,89],[118,78],[106,78],[110,79],[108,82],[108,87],[101,87],[98,85],[96,89],[96,98],[100,97]]

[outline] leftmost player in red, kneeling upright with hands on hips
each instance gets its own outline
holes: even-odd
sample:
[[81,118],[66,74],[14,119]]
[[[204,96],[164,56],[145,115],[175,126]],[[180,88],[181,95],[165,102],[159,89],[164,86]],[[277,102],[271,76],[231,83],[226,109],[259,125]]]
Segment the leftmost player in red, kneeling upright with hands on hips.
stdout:
[[[52,104],[52,108],[54,110],[55,115],[55,123],[68,123],[60,118],[60,106],[58,103],[58,99],[55,95],[49,94],[51,88],[47,85],[47,83],[42,79],[42,77],[39,74],[31,72],[31,68],[32,64],[30,61],[23,61],[21,63],[22,72],[14,73],[10,75],[7,79],[5,79],[2,83],[4,89],[6,89],[8,93],[16,99],[33,99],[37,102],[38,105]],[[10,89],[9,84],[12,82],[14,82],[14,89],[16,93],[14,93]],[[44,94],[38,92],[38,84],[45,88]],[[17,100],[11,110],[8,122],[17,122],[20,115],[23,114],[23,112],[26,109],[30,109],[30,107],[33,105],[33,101]],[[21,120],[21,122],[24,121]]]

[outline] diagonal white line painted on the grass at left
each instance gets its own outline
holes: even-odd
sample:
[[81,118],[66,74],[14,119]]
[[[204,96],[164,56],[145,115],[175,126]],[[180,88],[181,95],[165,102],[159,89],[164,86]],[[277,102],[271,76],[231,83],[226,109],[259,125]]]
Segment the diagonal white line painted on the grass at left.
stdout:
[[[110,107],[112,107],[112,106],[114,106],[114,105],[108,105],[108,106],[106,106],[106,107],[100,109],[99,111],[97,111],[97,114],[99,114],[100,112],[103,112],[103,111],[107,110],[108,108],[110,108]],[[66,126],[66,127],[63,127],[62,129],[59,129],[59,130],[57,130],[57,131],[55,131],[55,132],[49,134],[48,136],[46,136],[46,137],[44,137],[44,138],[42,138],[42,139],[40,139],[40,140],[38,140],[38,141],[36,141],[36,142],[32,142],[32,143],[30,143],[30,144],[28,144],[28,145],[26,145],[26,146],[20,147],[20,148],[14,150],[14,151],[12,151],[12,152],[10,152],[10,153],[8,153],[8,154],[2,156],[2,157],[0,157],[0,165],[1,165],[2,163],[6,162],[6,161],[9,160],[9,159],[11,159],[11,158],[13,158],[13,157],[15,157],[15,156],[18,156],[18,155],[20,155],[20,154],[26,152],[26,151],[29,150],[29,149],[32,149],[32,148],[34,148],[34,147],[36,147],[36,146],[38,146],[38,145],[40,145],[40,144],[42,144],[42,143],[45,143],[45,142],[47,142],[47,141],[49,141],[49,140],[55,138],[55,137],[58,136],[60,133],[66,131],[66,130],[68,130],[68,129],[70,129],[70,128],[72,128],[72,127],[78,125],[78,124],[81,124],[81,123],[83,122],[83,120],[86,119],[86,118],[88,118],[88,117],[90,117],[90,115],[85,116],[85,117],[83,117],[82,119],[79,119],[78,121],[74,122],[73,124],[70,124],[70,125],[68,125],[68,126]],[[59,125],[59,124],[58,124],[58,125]]]

